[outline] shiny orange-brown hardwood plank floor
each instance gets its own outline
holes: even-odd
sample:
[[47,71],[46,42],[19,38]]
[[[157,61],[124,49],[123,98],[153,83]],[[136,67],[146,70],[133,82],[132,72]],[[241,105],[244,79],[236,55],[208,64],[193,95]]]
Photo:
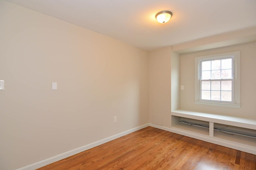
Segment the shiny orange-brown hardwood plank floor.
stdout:
[[38,170],[256,170],[256,155],[146,127]]

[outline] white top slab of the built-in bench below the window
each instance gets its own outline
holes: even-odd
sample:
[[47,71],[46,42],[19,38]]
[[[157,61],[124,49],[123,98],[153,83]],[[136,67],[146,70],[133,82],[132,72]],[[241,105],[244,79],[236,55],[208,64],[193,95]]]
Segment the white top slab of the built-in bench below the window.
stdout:
[[256,130],[255,119],[244,119],[241,117],[232,117],[185,110],[172,111],[172,115]]

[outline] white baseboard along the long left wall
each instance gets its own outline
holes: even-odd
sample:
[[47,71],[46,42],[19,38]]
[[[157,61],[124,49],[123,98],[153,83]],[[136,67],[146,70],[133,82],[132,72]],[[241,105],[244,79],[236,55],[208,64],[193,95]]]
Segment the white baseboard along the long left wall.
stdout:
[[58,154],[58,155],[56,155],[56,156],[52,156],[52,157],[47,158],[47,159],[45,159],[45,160],[41,160],[41,161],[36,162],[36,163],[34,163],[34,164],[30,164],[30,165],[28,165],[28,166],[24,166],[24,167],[22,167],[22,168],[18,168],[17,170],[35,170],[35,169],[37,169],[37,168],[41,168],[41,167],[43,167],[43,166],[46,166],[46,165],[51,164],[51,163],[53,163],[53,162],[56,162],[56,161],[58,161],[58,160],[62,160],[62,159],[64,159],[64,158],[67,158],[67,157],[72,156],[72,155],[74,155],[74,154],[78,154],[78,153],[83,152],[83,151],[85,151],[85,150],[91,149],[91,148],[93,148],[93,147],[97,147],[97,146],[99,146],[99,145],[102,145],[102,144],[104,144],[104,143],[107,143],[107,142],[109,142],[109,141],[112,141],[112,140],[114,140],[114,139],[117,139],[117,138],[122,137],[122,136],[124,136],[124,135],[127,135],[127,134],[129,134],[129,133],[138,131],[138,130],[143,129],[143,128],[148,127],[148,126],[149,126],[149,123],[147,123],[147,124],[145,124],[145,125],[141,125],[141,126],[135,127],[135,128],[133,128],[133,129],[130,129],[130,130],[127,130],[127,131],[118,133],[118,134],[116,134],[116,135],[107,137],[107,138],[105,138],[105,139],[101,139],[101,140],[99,140],[99,141],[90,143],[90,144],[88,144],[88,145],[84,145],[84,146],[82,146],[82,147],[79,147],[79,148],[70,150],[70,151],[68,151],[68,152],[64,152],[64,153],[62,153],[62,154]]

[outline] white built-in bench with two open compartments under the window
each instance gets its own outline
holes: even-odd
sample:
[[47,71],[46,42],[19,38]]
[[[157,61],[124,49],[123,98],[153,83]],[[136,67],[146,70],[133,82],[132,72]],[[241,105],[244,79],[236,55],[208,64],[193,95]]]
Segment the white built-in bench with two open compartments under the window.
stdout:
[[[200,139],[217,145],[222,145],[232,149],[256,154],[256,138],[246,135],[230,134],[216,130],[217,125],[238,127],[241,129],[251,129],[256,134],[256,120],[215,115],[209,113],[199,113],[184,110],[172,111],[172,132],[188,137]],[[180,123],[181,118],[199,120],[208,127],[192,126]]]

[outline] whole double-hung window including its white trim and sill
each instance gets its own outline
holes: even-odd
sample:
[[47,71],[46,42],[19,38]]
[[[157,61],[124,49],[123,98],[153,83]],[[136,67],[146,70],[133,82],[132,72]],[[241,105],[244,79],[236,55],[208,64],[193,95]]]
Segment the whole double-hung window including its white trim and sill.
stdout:
[[195,103],[240,107],[240,52],[196,57]]

